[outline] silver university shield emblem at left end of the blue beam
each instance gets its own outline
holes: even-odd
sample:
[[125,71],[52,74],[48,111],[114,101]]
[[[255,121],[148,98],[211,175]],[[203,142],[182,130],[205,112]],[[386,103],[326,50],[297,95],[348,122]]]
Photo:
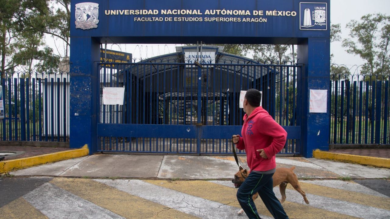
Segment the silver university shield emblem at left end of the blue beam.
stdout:
[[99,4],[83,2],[76,4],[76,28],[88,30],[97,28],[99,20]]

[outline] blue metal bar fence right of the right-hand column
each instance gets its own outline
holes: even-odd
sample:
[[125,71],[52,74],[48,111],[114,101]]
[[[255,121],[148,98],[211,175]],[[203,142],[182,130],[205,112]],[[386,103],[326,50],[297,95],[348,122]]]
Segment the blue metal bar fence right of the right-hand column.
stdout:
[[330,81],[329,142],[388,144],[389,81],[352,78]]

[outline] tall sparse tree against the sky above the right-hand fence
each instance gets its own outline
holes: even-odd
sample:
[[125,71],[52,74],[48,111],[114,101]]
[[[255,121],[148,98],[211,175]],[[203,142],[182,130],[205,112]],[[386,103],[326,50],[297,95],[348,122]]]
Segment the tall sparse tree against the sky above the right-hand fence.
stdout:
[[350,21],[346,27],[350,29],[351,39],[344,39],[342,45],[348,53],[365,60],[360,73],[369,75],[371,79],[388,78],[390,16],[367,14],[360,21]]

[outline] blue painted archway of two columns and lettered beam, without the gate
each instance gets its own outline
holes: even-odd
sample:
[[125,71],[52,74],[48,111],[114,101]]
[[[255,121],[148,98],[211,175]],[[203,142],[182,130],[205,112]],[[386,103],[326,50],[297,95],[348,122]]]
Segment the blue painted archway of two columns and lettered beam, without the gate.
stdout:
[[309,113],[309,90],[329,90],[329,0],[73,0],[71,5],[71,148],[87,144],[90,153],[96,150],[101,43],[203,41],[298,44],[298,63],[304,66],[297,82],[302,155],[328,150],[329,106],[327,113]]

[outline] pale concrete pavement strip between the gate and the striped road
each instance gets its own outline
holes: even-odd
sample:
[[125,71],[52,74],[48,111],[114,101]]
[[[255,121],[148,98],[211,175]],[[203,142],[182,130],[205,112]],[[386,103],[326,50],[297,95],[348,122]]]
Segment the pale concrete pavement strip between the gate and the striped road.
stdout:
[[[239,157],[246,167],[246,157]],[[277,157],[277,167],[295,166],[304,179],[388,178],[390,169],[301,157]],[[238,171],[232,156],[90,155],[13,171],[16,176],[84,178],[230,179]]]

